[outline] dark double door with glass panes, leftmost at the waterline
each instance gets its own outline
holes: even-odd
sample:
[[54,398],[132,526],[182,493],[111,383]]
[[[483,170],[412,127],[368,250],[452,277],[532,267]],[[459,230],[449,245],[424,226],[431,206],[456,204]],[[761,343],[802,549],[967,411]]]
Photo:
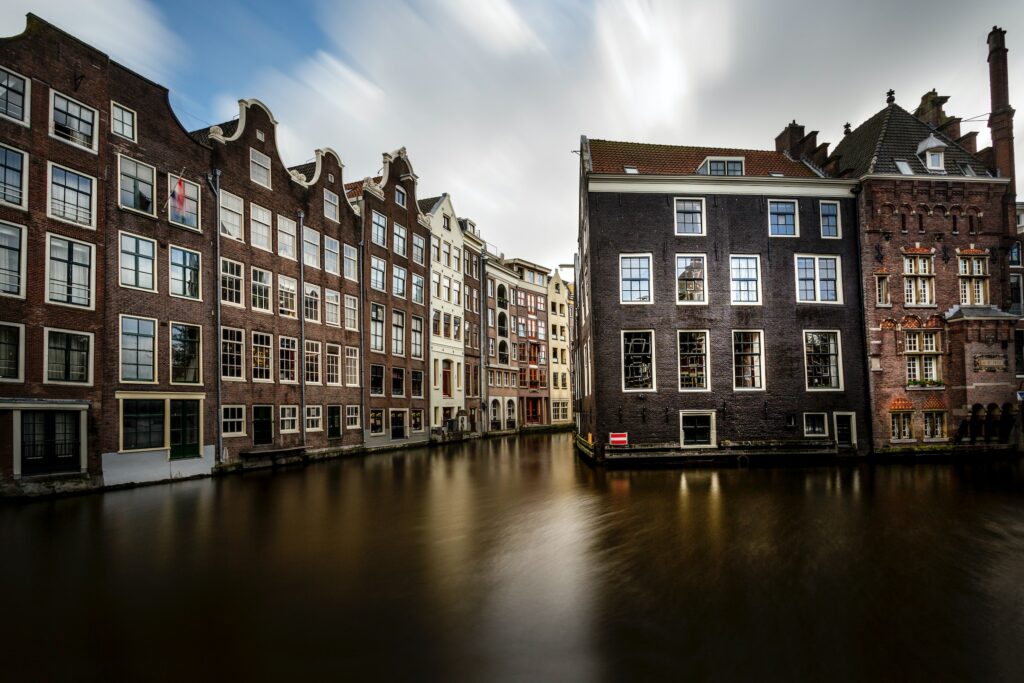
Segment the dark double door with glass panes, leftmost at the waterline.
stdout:
[[77,411],[24,411],[22,474],[80,472],[80,420]]

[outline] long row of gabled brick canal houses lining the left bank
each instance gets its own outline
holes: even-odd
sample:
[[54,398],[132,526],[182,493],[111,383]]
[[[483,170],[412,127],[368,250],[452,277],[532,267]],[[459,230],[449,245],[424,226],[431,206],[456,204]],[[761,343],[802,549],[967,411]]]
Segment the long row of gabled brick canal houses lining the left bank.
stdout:
[[[435,229],[404,150],[383,156],[380,176],[346,184],[331,150],[287,167],[276,121],[255,99],[188,132],[166,88],[31,14],[0,41],[0,490],[492,431],[486,268],[501,269],[510,301],[548,275],[527,284],[501,265],[450,201]],[[432,325],[442,270],[464,273],[445,302],[446,338],[443,312],[437,335]],[[437,358],[441,338],[451,357],[465,346],[465,360]],[[432,390],[449,398],[445,381],[462,391],[435,418]],[[500,431],[518,429],[521,412],[503,413]]]

